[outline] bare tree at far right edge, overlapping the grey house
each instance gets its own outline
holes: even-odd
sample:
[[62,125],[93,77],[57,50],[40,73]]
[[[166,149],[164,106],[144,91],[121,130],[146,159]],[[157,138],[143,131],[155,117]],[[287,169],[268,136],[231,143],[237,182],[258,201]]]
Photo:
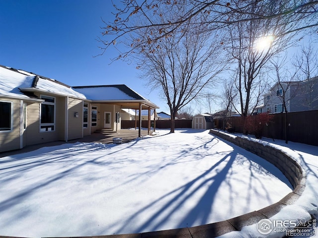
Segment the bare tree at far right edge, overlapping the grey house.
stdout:
[[302,44],[300,53],[294,57],[293,62],[295,67],[300,68],[299,77],[304,80],[299,90],[300,103],[308,110],[314,110],[318,101],[318,93],[315,93],[318,88],[318,49],[314,44],[315,41],[310,37],[306,45]]

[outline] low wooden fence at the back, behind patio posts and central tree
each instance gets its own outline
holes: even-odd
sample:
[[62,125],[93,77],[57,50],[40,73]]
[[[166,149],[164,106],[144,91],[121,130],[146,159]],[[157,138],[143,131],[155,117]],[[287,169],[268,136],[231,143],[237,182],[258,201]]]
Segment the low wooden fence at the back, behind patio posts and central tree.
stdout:
[[[152,125],[154,121],[151,121]],[[135,128],[134,120],[122,120],[121,128]],[[164,129],[170,128],[171,120],[156,120],[156,128]],[[137,127],[139,126],[139,120],[137,120]],[[141,126],[148,128],[148,120],[142,120]],[[174,120],[174,128],[192,128],[192,119]]]

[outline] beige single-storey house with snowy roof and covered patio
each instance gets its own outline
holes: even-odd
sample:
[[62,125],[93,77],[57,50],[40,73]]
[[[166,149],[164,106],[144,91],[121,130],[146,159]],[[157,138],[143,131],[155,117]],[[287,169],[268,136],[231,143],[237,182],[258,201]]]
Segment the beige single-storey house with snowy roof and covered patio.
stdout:
[[0,152],[120,129],[121,108],[159,108],[126,85],[71,87],[0,65]]

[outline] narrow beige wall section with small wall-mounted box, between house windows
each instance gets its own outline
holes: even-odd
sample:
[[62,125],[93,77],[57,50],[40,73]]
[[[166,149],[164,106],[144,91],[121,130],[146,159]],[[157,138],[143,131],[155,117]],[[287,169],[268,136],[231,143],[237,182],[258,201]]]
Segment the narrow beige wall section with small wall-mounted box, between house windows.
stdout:
[[[78,113],[78,118],[75,117]],[[83,137],[83,102],[79,99],[69,98],[69,126],[68,140],[78,139]]]

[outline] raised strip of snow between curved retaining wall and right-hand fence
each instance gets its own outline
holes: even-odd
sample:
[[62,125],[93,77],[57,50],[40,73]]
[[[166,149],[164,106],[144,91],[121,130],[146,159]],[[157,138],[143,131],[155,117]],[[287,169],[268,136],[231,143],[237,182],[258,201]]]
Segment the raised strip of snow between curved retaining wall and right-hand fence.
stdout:
[[[292,228],[293,224],[290,221],[295,221],[299,224],[299,221],[309,221],[311,216],[314,217],[317,228],[318,219],[318,147],[301,143],[294,143],[289,141],[286,144],[282,140],[275,140],[269,138],[262,138],[262,140],[253,139],[244,135],[238,135],[249,140],[261,143],[263,145],[272,146],[284,153],[292,156],[298,161],[305,169],[307,174],[306,188],[302,196],[290,206],[284,207],[279,213],[270,218],[271,221],[287,221],[287,227]],[[313,228],[312,223],[307,224],[310,228]],[[257,230],[257,224],[243,227],[240,232],[232,232],[221,236],[220,238],[246,238],[246,237],[264,237],[264,238],[280,238],[285,237],[286,232],[277,232],[273,230],[270,234],[261,236]],[[300,236],[294,236],[297,238],[304,237],[318,237],[317,229],[313,232],[313,229],[309,232],[309,236],[304,236],[306,233],[299,233]],[[296,233],[297,234],[297,233]]]

